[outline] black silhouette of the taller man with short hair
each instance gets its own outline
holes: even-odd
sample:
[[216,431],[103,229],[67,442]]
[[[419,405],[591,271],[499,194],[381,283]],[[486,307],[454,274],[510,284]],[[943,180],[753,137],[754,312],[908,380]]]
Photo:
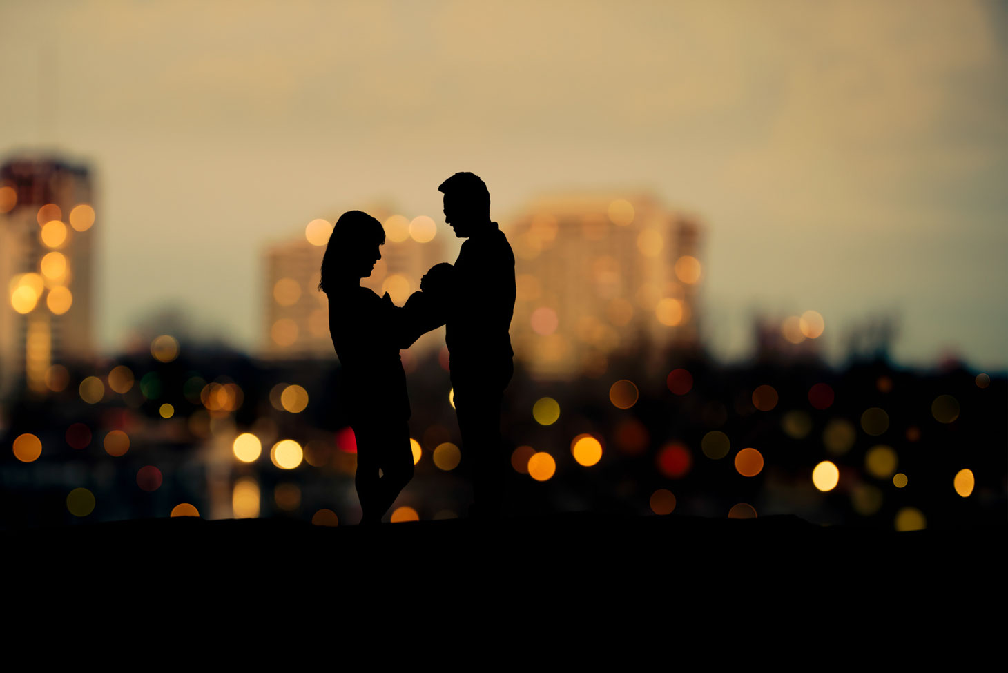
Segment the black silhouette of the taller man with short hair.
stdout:
[[445,194],[445,222],[457,237],[468,239],[451,274],[445,342],[462,447],[471,461],[471,515],[495,519],[501,515],[508,464],[500,416],[501,398],[514,373],[508,333],[514,313],[514,253],[490,220],[490,192],[482,179],[456,173],[437,189]]

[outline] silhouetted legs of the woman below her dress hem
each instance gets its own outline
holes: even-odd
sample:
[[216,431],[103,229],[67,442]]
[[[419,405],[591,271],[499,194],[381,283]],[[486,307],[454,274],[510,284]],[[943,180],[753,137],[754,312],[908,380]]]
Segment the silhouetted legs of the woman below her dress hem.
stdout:
[[[357,437],[357,474],[354,483],[361,501],[362,524],[379,523],[399,493],[413,479],[413,449],[405,421],[384,426],[354,428]],[[382,476],[378,477],[381,468]]]

